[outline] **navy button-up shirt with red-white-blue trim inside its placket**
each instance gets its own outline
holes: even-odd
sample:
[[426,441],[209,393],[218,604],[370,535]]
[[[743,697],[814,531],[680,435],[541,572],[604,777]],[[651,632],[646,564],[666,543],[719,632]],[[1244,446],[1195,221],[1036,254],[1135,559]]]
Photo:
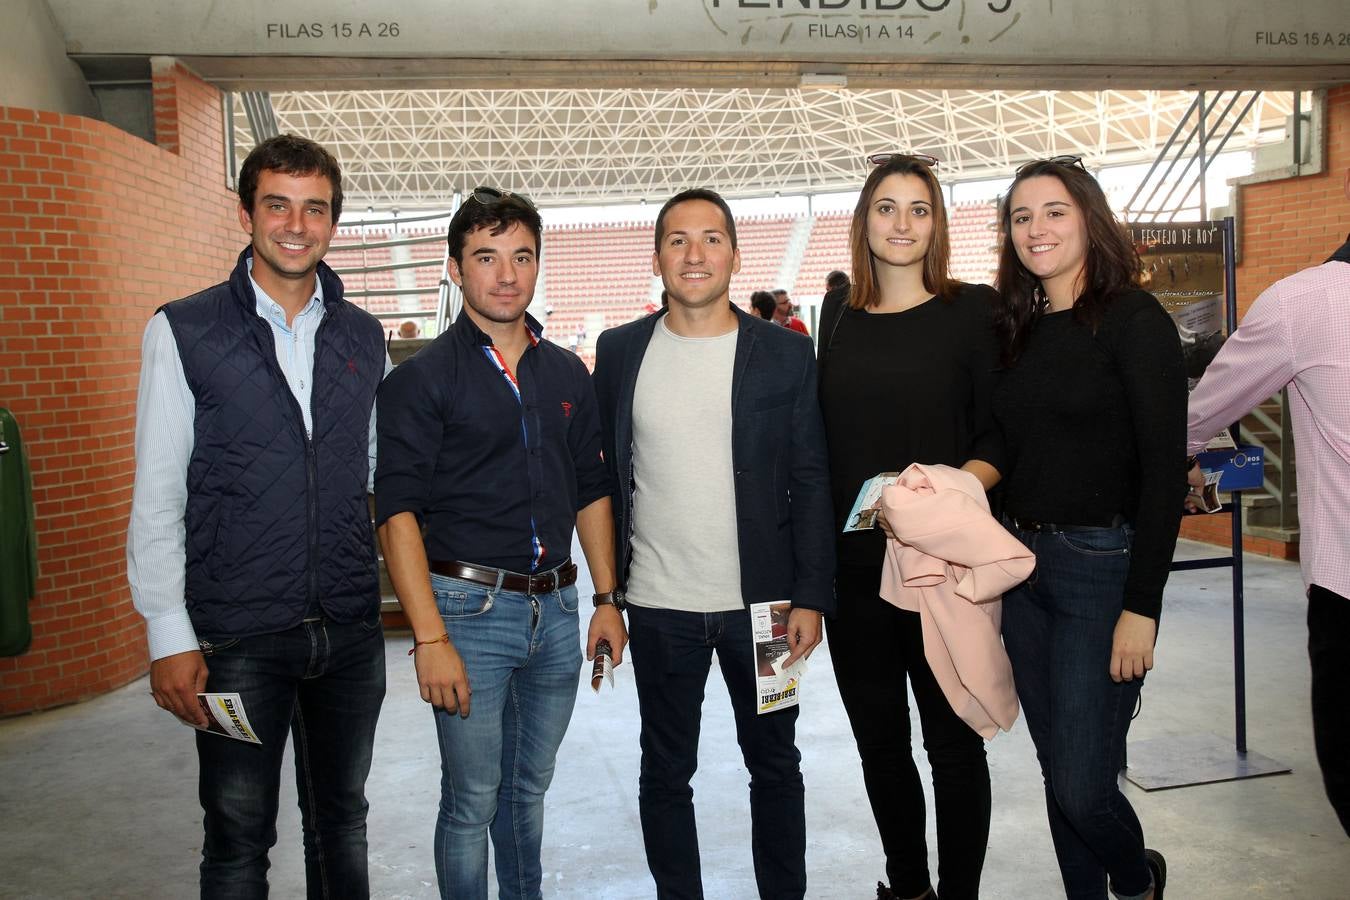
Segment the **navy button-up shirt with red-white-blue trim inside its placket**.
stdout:
[[576,511],[610,494],[590,374],[526,324],[514,372],[460,314],[379,387],[375,522],[414,513],[429,560],[554,568]]

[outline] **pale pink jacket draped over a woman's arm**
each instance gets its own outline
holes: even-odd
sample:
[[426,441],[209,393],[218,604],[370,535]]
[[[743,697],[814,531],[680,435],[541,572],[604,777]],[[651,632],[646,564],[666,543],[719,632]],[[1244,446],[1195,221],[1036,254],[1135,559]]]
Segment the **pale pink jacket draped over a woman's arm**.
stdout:
[[923,656],[948,703],[986,739],[1017,721],[1017,688],[999,623],[1003,591],[1035,557],[992,515],[969,472],[915,463],[882,491],[887,541],[882,598],[919,614]]

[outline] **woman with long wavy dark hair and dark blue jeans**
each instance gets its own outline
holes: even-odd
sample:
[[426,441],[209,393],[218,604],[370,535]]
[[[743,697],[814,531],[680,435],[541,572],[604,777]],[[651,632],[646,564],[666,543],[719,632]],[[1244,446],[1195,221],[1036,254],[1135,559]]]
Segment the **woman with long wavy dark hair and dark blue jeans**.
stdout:
[[1003,640],[1069,900],[1161,900],[1116,777],[1187,493],[1181,344],[1079,158],[1022,166],[999,225],[1004,521],[1037,559]]

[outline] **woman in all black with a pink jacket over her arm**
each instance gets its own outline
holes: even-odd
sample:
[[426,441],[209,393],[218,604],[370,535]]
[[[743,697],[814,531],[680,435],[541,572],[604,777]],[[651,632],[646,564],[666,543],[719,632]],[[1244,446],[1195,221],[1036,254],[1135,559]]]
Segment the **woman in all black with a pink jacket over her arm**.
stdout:
[[[996,437],[990,414],[994,291],[948,275],[946,210],[933,165],[922,157],[882,158],[853,210],[853,286],[825,298],[821,406],[836,529],[863,482],[910,463],[965,467],[986,487],[998,480],[980,461]],[[933,896],[907,680],[933,769],[938,892],[942,900],[973,899],[990,834],[984,741],[934,681],[918,613],[879,595],[882,532],[841,533],[837,546],[838,614],[826,631],[886,850],[890,887],[879,884],[878,897]]]

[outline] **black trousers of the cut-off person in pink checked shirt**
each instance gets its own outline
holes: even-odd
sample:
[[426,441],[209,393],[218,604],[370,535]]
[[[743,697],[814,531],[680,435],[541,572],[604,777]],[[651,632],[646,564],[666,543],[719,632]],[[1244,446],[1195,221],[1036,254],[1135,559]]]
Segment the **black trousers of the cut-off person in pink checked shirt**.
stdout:
[[1308,658],[1318,764],[1327,799],[1350,835],[1350,599],[1316,584],[1308,590]]

